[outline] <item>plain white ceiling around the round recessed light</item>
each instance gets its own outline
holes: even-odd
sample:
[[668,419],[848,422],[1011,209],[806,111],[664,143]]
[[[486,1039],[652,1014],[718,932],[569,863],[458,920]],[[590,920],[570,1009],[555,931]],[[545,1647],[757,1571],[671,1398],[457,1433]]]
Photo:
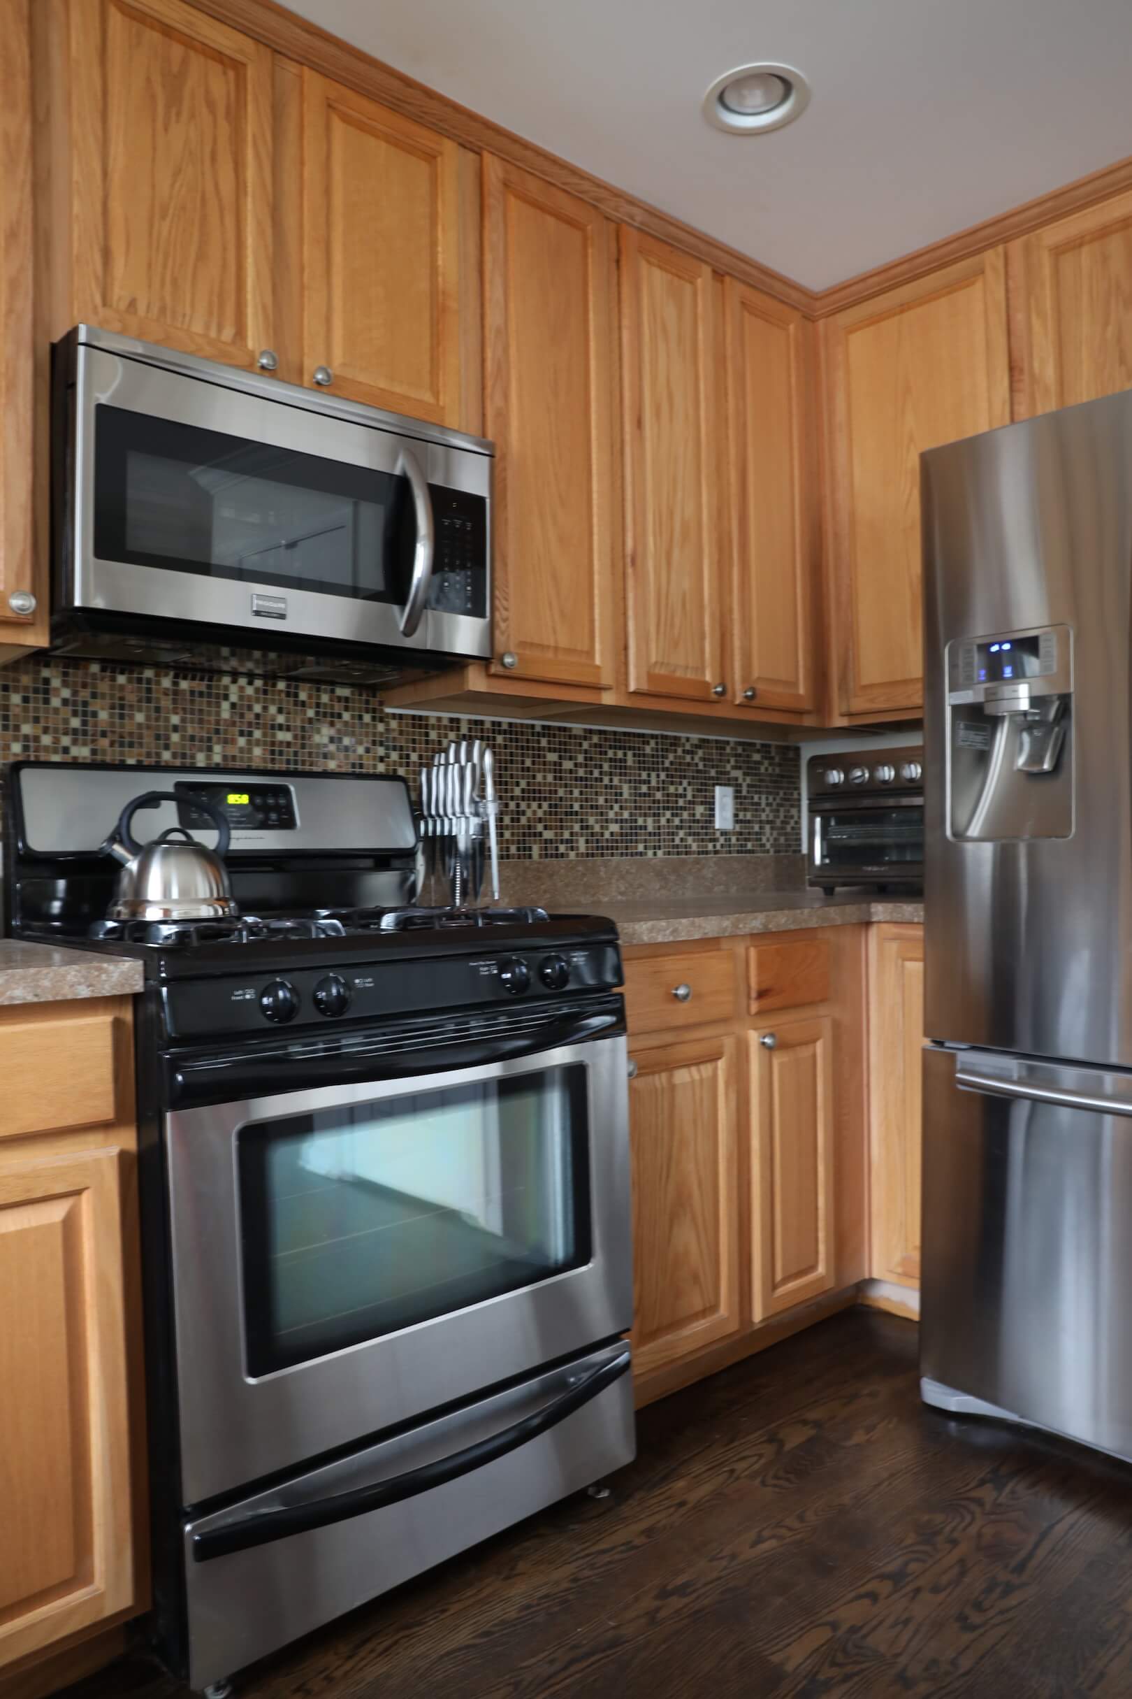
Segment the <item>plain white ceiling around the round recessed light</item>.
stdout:
[[[1130,0],[285,0],[811,289],[1132,153]],[[735,65],[810,78],[737,138]]]

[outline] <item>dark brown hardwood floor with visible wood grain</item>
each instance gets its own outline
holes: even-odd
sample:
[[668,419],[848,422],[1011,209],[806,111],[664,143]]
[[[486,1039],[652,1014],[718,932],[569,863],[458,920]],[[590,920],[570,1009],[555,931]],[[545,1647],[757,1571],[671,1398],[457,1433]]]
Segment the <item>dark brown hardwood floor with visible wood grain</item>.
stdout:
[[[1132,1468],[925,1410],[908,1322],[849,1310],[652,1405],[611,1485],[238,1699],[1132,1694]],[[144,1658],[68,1689],[183,1692]]]

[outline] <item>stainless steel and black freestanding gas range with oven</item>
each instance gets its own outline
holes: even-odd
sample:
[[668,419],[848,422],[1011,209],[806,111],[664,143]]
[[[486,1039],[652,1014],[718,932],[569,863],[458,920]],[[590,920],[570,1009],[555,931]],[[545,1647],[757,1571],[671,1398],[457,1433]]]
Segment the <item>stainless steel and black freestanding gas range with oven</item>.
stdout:
[[[153,834],[231,809],[239,917],[100,919],[102,839],[146,790],[175,799],[136,817]],[[19,763],[5,873],[12,931],[146,968],[154,1597],[178,1675],[222,1682],[631,1459],[609,923],[416,909],[409,795],[382,778]]]

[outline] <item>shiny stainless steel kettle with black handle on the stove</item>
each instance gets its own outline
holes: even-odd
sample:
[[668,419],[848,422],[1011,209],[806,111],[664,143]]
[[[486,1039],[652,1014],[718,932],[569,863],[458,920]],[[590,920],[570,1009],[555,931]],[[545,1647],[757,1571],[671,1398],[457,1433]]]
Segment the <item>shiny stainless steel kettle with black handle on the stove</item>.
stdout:
[[207,814],[216,826],[216,850],[199,844],[183,826],[170,826],[148,844],[139,844],[131,833],[139,809],[153,809],[158,802],[183,807],[185,800],[171,790],[146,790],[122,809],[102,844],[105,855],[122,863],[109,919],[221,921],[239,914],[224,866],[231,829],[221,809],[204,797],[192,799],[193,814]]

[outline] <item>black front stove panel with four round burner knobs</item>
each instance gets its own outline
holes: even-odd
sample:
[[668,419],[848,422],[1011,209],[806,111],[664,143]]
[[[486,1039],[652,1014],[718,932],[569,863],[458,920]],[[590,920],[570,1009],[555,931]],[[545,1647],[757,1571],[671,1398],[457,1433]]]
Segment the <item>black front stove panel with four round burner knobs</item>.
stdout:
[[175,979],[165,985],[165,1024],[170,1038],[231,1038],[236,1033],[326,1031],[399,1014],[443,1013],[477,1006],[507,1006],[519,999],[550,1001],[623,984],[614,943],[519,945],[516,950],[404,957],[380,951],[322,955],[317,967],[299,967],[289,953],[285,970],[260,965],[248,974]]

